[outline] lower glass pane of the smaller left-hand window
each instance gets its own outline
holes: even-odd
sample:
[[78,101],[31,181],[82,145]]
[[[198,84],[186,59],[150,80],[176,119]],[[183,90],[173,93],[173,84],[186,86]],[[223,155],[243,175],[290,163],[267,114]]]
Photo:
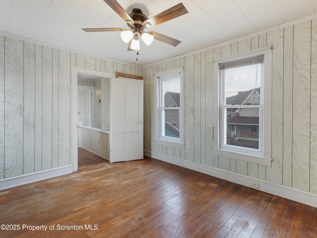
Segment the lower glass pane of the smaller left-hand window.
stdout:
[[165,136],[179,138],[179,110],[165,110]]

